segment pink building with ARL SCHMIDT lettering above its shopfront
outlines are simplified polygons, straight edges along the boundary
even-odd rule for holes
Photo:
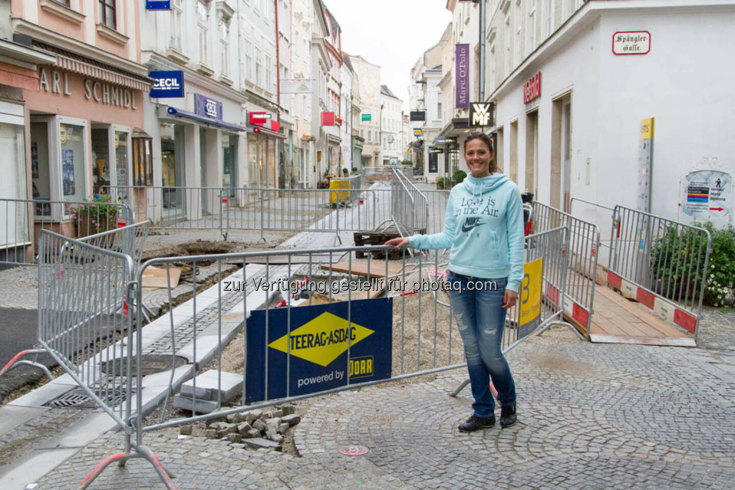
[[[16,40],[50,60],[36,63],[35,87],[26,84],[22,93],[29,198],[85,201],[106,193],[107,186],[135,184],[152,172],[134,161],[140,141],[132,139],[134,129],[143,128],[151,88],[148,69],[140,64],[140,5],[10,1]],[[43,209],[36,205],[33,212],[48,215]],[[54,223],[71,231],[65,206],[51,209]]]

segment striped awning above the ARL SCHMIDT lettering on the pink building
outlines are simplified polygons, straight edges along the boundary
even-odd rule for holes
[[[115,68],[112,65],[84,57],[81,54],[72,53],[56,46],[40,43],[39,41],[34,41],[33,45],[56,54],[56,65],[66,71],[90,76],[93,79],[121,85],[122,87],[128,87],[134,90],[143,90],[143,92],[151,91],[152,83],[148,77],[138,76],[135,73],[130,73],[120,68]]]

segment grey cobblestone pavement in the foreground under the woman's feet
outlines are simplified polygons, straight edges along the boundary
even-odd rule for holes
[[[732,327],[731,327],[732,328]],[[717,353],[595,345],[553,328],[509,354],[519,422],[459,433],[462,370],[313,400],[294,439],[300,458],[240,444],[148,434],[180,489],[735,489],[735,376]],[[340,455],[345,444],[365,456]],[[71,489],[120,433],[40,480]],[[110,466],[92,489],[161,489],[151,466]]]

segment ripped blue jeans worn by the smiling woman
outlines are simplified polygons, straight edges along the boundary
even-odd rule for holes
[[[495,400],[490,392],[490,378],[498,390],[501,406],[515,403],[513,375],[501,352],[506,317],[503,296],[508,278],[467,278],[449,271],[447,279],[454,286],[450,298],[459,334],[465,344],[467,371],[470,372],[470,386],[475,398],[472,408],[477,417],[494,417]],[[496,287],[492,287],[493,283]],[[456,286],[460,287],[459,290]]]

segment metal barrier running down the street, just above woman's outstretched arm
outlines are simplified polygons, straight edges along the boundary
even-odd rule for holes
[[[426,233],[429,201],[403,173],[393,170],[390,183],[390,217],[403,237]]]

